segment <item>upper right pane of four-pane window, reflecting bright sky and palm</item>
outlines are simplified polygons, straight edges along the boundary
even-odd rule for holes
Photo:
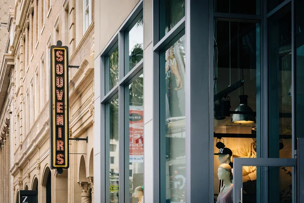
[[[135,21],[135,25],[130,31],[125,32],[126,63],[125,74],[143,58],[143,17],[140,14]]]

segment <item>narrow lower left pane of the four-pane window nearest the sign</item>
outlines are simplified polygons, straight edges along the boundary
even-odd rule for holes
[[[110,203],[119,202],[119,137],[118,137],[118,97],[109,104],[109,138],[111,150],[109,160]],[[116,147],[113,147],[116,146]]]

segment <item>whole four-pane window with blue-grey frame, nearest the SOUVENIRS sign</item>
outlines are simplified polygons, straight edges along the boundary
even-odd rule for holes
[[[132,203],[143,201],[142,3],[129,19],[119,29],[121,35],[115,36],[101,54],[104,63],[101,104],[105,109],[104,119],[108,121],[104,127],[105,192],[106,202],[111,203],[126,198]],[[124,48],[118,46],[119,42]],[[129,190],[120,191],[122,187]],[[124,196],[120,196],[122,193]]]

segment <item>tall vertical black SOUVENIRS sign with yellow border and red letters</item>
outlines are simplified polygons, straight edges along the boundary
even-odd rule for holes
[[[50,49],[51,168],[68,168],[68,47],[57,41]]]

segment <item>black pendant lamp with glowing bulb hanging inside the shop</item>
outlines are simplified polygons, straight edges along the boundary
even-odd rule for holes
[[[250,124],[255,123],[255,116],[252,109],[247,105],[248,95],[240,95],[240,105],[235,110],[238,113],[232,115],[232,123],[236,124]],[[243,113],[242,113],[243,112]]]

